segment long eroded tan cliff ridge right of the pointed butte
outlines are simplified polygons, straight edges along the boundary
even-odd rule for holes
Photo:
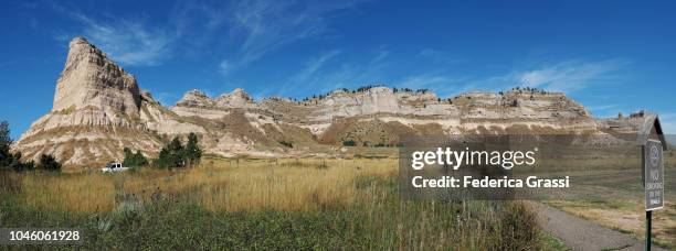
[[[584,107],[560,92],[515,89],[441,99],[431,91],[371,87],[358,91],[340,89],[304,101],[284,98],[218,101],[223,97],[249,95],[236,89],[210,98],[199,90],[191,90],[171,110],[183,118],[194,118],[210,124],[203,127],[207,138],[226,135],[228,141],[207,146],[230,154],[237,152],[233,149],[243,150],[242,145],[249,145],[250,151],[267,145],[264,151],[273,153],[278,150],[316,150],[315,144],[338,146],[347,141],[358,145],[395,145],[405,134],[598,132],[596,121]],[[244,118],[241,118],[242,114]],[[234,128],[251,130],[233,132],[233,128],[223,127],[225,120],[239,121],[232,126]],[[295,129],[294,137],[284,142],[295,142],[297,148],[282,148],[275,142],[281,140],[268,137],[292,134],[289,128]],[[258,135],[265,138],[258,139]],[[233,142],[233,145],[228,142]]]

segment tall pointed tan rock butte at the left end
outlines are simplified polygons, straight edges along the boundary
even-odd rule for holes
[[[123,148],[152,153],[161,142],[147,129],[144,107],[156,111],[159,103],[141,92],[131,74],[84,37],[75,37],[52,110],[33,122],[12,150],[32,160],[53,154],[71,168],[120,160]]]

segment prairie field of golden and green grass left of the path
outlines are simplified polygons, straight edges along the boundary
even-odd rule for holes
[[[207,156],[186,170],[2,173],[0,225],[80,228],[85,250],[564,249],[527,204],[400,200],[397,172],[389,157]]]

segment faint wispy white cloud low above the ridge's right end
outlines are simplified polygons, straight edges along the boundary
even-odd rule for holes
[[[629,62],[623,59],[569,61],[517,73],[514,76],[525,86],[570,92],[590,85],[617,80],[620,70],[627,64]]]

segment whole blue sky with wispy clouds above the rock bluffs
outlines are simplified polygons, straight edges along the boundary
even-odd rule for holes
[[[187,90],[303,98],[367,84],[442,97],[532,86],[594,116],[647,108],[676,133],[673,1],[4,1],[0,119],[52,107],[84,35],[163,105]]]

